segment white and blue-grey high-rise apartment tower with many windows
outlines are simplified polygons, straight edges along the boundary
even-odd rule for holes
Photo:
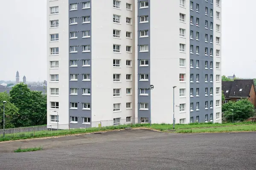
[[[172,123],[173,86],[176,123],[221,122],[220,0],[48,0],[47,18],[47,124]]]

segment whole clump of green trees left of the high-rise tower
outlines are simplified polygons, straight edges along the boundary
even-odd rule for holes
[[[6,129],[47,124],[47,95],[20,83],[12,87],[10,94],[0,92],[0,129],[3,128],[3,101],[6,101]]]

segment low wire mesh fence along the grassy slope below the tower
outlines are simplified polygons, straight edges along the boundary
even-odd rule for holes
[[[19,127],[12,129],[0,130],[0,141],[4,138],[31,138],[47,137],[54,135],[68,135],[75,133],[91,133],[105,130],[115,130],[120,128],[132,127],[134,124],[140,124],[141,118],[115,118],[109,121],[95,121],[85,123],[69,123],[69,124],[50,124],[47,126]]]

